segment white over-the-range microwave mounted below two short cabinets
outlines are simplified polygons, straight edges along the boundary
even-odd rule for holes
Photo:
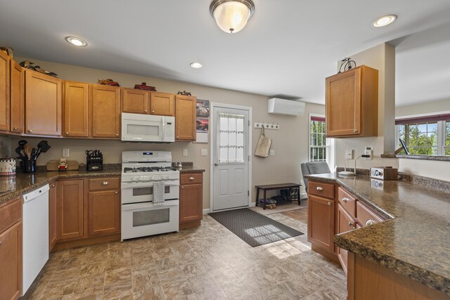
[[[122,112],[122,141],[174,142],[175,117]]]

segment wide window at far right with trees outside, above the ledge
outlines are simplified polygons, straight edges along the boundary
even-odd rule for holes
[[[450,114],[401,118],[395,124],[397,141],[405,142],[410,155],[450,155]]]

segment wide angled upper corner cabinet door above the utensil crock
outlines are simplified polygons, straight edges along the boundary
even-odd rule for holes
[[[25,133],[61,135],[63,81],[25,70]]]

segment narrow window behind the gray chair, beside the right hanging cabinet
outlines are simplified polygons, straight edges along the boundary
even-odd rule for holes
[[[309,162],[326,162],[327,139],[325,117],[309,117]]]

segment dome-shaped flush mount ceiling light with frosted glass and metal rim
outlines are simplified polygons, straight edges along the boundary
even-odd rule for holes
[[[252,0],[214,0],[210,5],[210,13],[217,26],[228,33],[243,30],[254,12]]]

